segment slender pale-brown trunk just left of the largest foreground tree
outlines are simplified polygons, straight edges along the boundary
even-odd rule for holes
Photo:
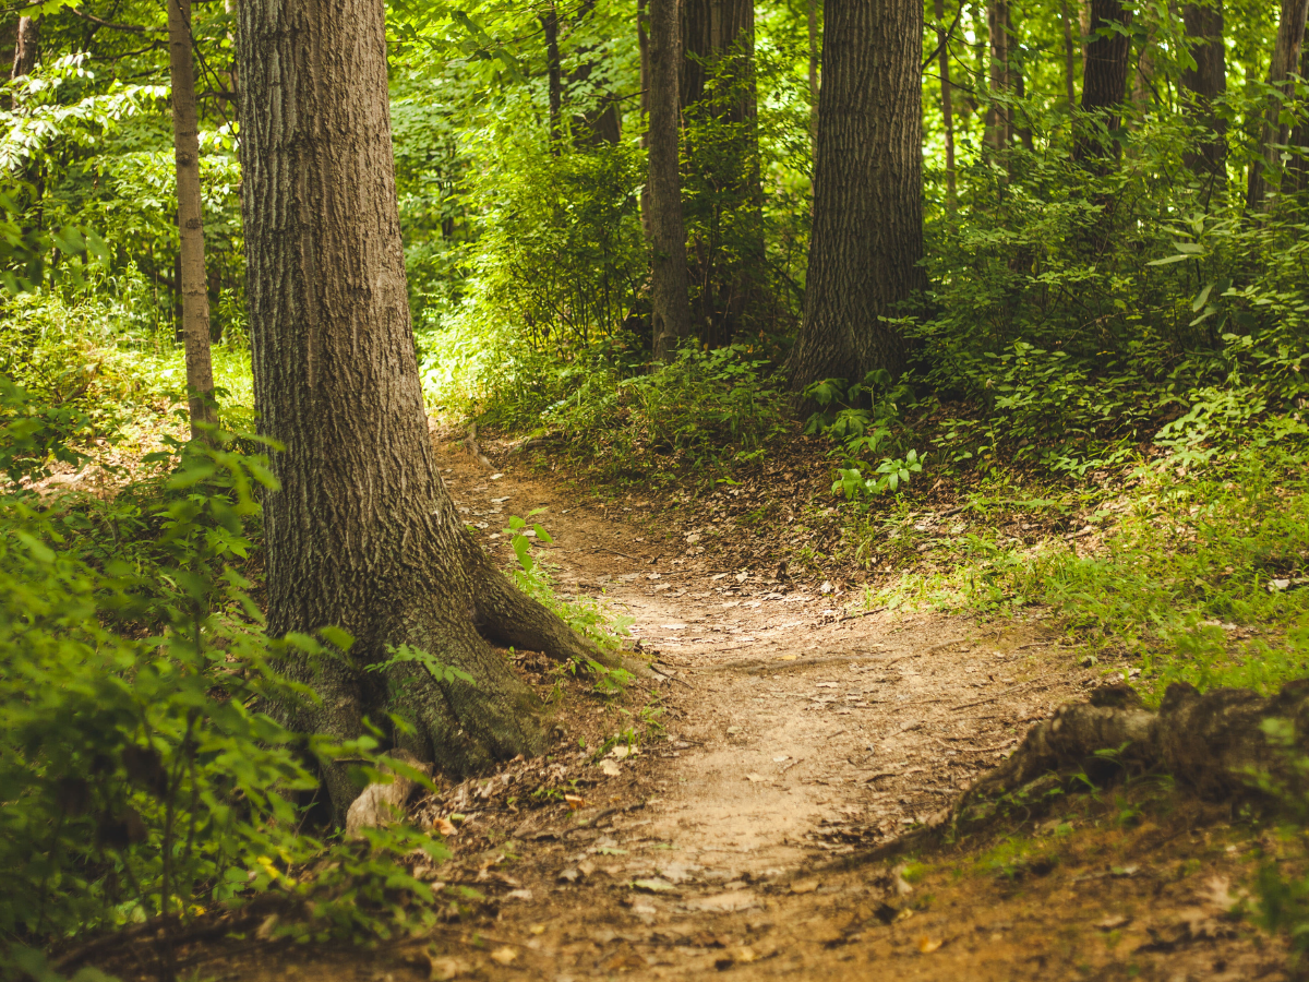
[[[209,361],[209,295],[204,275],[204,215],[200,202],[200,135],[191,60],[191,0],[168,0],[169,76],[173,82],[173,145],[177,157],[178,285],[182,342],[191,406],[191,439],[217,422]]]

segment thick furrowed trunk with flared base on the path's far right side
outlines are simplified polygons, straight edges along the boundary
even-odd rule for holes
[[[791,384],[905,367],[881,318],[923,285],[923,5],[830,0],[805,314]]]

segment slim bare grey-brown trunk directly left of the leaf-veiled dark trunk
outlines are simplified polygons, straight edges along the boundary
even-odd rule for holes
[[[649,230],[654,357],[672,360],[691,335],[686,228],[682,224],[678,81],[682,46],[677,0],[649,0]]]

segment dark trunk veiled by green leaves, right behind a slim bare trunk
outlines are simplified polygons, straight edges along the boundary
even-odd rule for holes
[[[683,0],[682,119],[695,187],[691,325],[720,347],[746,329],[763,267],[763,191],[755,130],[754,0]],[[719,126],[706,145],[696,122]],[[686,187],[683,187],[683,191]]]

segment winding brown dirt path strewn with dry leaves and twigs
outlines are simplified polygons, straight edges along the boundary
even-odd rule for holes
[[[658,501],[592,499],[521,460],[493,474],[458,443],[439,461],[504,560],[508,516],[546,509],[558,593],[631,617],[657,681],[602,697],[520,655],[556,744],[416,804],[457,829],[453,859],[419,871],[454,897],[442,926],[365,953],[229,952],[199,977],[1293,977],[1228,913],[1275,837],[1165,783],[888,850],[1101,682],[1039,611],[860,615],[831,584],[689,549]]]

